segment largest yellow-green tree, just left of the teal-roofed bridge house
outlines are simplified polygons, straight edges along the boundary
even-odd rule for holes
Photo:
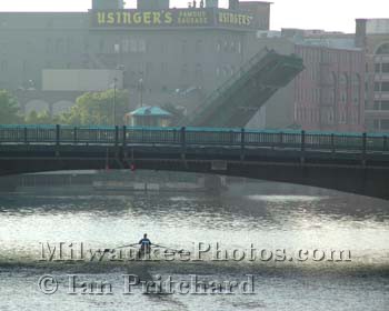
[[[108,90],[84,93],[76,100],[76,104],[69,112],[59,116],[59,122],[63,124],[112,126],[113,110],[116,110],[116,123],[122,124],[124,113],[128,112],[127,91]]]

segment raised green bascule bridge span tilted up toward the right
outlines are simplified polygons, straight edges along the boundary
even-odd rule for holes
[[[263,49],[205,99],[180,126],[242,128],[303,70],[302,59]]]

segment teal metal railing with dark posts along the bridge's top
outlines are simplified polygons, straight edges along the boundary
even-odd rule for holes
[[[306,132],[215,128],[0,126],[0,143],[184,144],[301,150],[389,151],[388,133]]]

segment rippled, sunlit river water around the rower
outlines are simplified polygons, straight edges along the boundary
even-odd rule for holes
[[[221,194],[3,194],[0,310],[389,310],[388,202],[336,192],[251,188]],[[288,257],[217,261],[209,252],[197,261],[69,260],[70,243],[112,249],[139,241],[144,232],[153,243],[173,249],[194,250],[199,242],[215,249],[219,242],[230,254],[252,244],[266,254],[285,250]],[[48,245],[60,242],[68,257],[49,261]],[[296,260],[299,250],[307,260]],[[313,250],[325,259],[313,260]],[[331,261],[331,250],[350,257]],[[144,289],[134,285],[128,294],[128,274],[187,284],[196,275],[203,282],[247,282],[247,287],[230,294],[223,290],[143,294]],[[43,275],[53,279],[39,283]],[[73,291],[71,280],[78,284]],[[82,294],[81,281],[110,284],[112,294]],[[54,293],[42,292],[53,288]]]

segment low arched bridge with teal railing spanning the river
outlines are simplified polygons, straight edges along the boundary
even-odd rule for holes
[[[0,126],[0,175],[106,168],[247,177],[389,199],[386,134]]]

